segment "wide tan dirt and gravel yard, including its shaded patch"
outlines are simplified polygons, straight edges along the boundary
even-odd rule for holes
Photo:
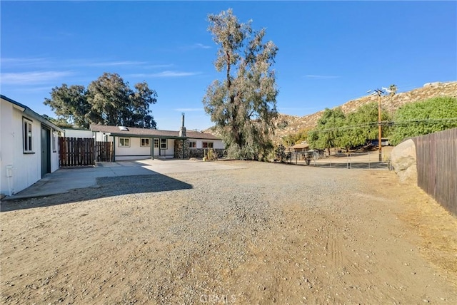
[[[457,218],[418,187],[241,163],[2,202],[1,303],[457,304]]]

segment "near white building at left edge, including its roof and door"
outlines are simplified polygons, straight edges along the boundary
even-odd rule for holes
[[[59,169],[64,130],[16,100],[0,99],[0,193],[11,196]]]

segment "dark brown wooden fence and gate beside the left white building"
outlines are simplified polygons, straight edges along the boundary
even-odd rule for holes
[[[111,142],[95,142],[93,138],[59,138],[60,166],[87,166],[111,160]]]

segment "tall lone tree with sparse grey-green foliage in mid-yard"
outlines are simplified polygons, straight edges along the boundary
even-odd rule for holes
[[[204,96],[204,108],[221,132],[231,157],[262,159],[272,148],[269,135],[277,116],[275,73],[278,48],[263,43],[265,29],[253,31],[231,9],[209,15],[209,31],[219,45],[214,66],[224,73]]]

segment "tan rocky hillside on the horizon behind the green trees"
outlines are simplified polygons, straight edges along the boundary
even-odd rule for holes
[[[406,103],[414,103],[419,100],[435,98],[443,95],[457,97],[457,82],[426,83],[422,88],[398,93],[392,97],[388,95],[381,96],[381,104],[383,105],[383,109],[393,112]],[[367,95],[361,98],[356,98],[355,100],[349,100],[347,103],[341,105],[341,108],[344,113],[351,113],[361,105],[377,101],[378,95]],[[318,119],[321,118],[322,113],[323,110],[304,116],[279,114],[275,124],[280,126],[281,123],[286,123],[287,125],[285,128],[276,128],[276,135],[273,136],[273,142],[281,143],[281,138],[285,135],[293,135],[295,133],[299,133],[303,129],[315,127]],[[214,133],[215,135],[217,134],[214,128],[209,128],[204,131]]]

